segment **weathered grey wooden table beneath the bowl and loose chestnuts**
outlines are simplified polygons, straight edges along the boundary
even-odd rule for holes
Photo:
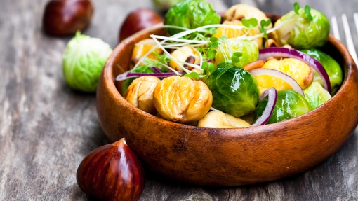
[[[75,92],[63,80],[62,53],[69,38],[42,31],[47,1],[0,2],[0,200],[92,200],[77,186],[77,167],[90,151],[109,143],[98,123],[95,94]],[[241,2],[284,14],[294,1]],[[358,10],[358,0],[298,2],[310,4],[328,18],[347,13],[350,25]],[[93,3],[95,15],[84,33],[103,39],[112,48],[126,14],[138,6],[152,7],[150,0]],[[211,3],[225,11],[238,1]],[[343,36],[341,32],[344,40]],[[353,37],[358,47],[356,32]],[[270,183],[203,187],[147,172],[140,200],[358,200],[357,132],[317,167]]]

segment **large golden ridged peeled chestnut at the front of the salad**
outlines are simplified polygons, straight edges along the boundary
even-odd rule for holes
[[[194,123],[208,113],[213,95],[202,81],[171,76],[158,83],[153,100],[158,113],[166,120]]]

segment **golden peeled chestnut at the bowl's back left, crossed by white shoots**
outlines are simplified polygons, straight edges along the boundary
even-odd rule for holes
[[[156,44],[153,39],[144,39],[142,41],[139,41],[139,43],[135,44],[131,57],[131,61],[133,62],[133,64],[137,64],[140,58],[147,54],[148,51],[152,49],[155,45]],[[157,51],[159,55],[163,53],[163,50],[161,50],[161,48],[156,48],[154,51]],[[157,57],[155,56],[154,51],[150,53],[147,57],[155,60]]]

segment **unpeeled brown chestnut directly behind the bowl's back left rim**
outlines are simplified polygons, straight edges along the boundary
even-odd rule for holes
[[[124,20],[119,30],[119,42],[126,39],[126,37],[139,32],[142,29],[152,27],[163,22],[161,15],[150,8],[138,8],[129,13],[126,20]]]

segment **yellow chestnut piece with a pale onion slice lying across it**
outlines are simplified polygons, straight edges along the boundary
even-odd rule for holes
[[[312,69],[297,59],[286,58],[283,60],[269,60],[265,63],[263,68],[275,69],[291,76],[297,81],[300,87],[304,90],[311,85],[313,81]],[[291,90],[291,86],[280,78],[272,76],[256,76],[260,92],[268,88],[276,88],[276,90]]]

